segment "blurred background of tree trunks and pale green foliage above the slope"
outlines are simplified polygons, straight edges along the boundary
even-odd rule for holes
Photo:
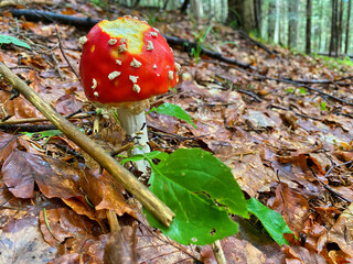
[[[103,0],[92,0],[104,4]],[[115,0],[127,7],[180,9],[195,22],[216,20],[266,42],[320,55],[352,54],[351,0]],[[353,54],[352,54],[353,55]]]

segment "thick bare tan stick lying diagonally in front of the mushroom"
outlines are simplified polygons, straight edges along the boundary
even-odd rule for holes
[[[39,111],[42,112],[58,130],[76,143],[82,150],[88,153],[109,174],[130,191],[161,223],[169,227],[174,213],[158,197],[156,197],[141,182],[131,175],[105,150],[93,140],[81,132],[74,124],[68,122],[60,113],[44,102],[24,80],[13,74],[3,63],[0,62],[0,75],[7,79],[14,89],[21,92]]]

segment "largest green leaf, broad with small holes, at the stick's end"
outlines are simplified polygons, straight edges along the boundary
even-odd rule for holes
[[[248,217],[231,168],[201,148],[178,150],[151,164],[151,191],[172,211],[170,228],[145,210],[149,223],[182,244],[208,244],[237,232],[228,213]],[[217,206],[218,205],[218,206]]]

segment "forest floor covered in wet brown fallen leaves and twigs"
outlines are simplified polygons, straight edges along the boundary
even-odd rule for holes
[[[132,14],[191,42],[211,24],[196,26],[180,13],[121,7],[108,12],[83,2],[26,8],[97,20]],[[89,134],[94,108],[74,74],[77,40],[89,29],[14,19],[9,7],[1,11],[2,34],[32,50],[2,44],[0,61],[61,114],[82,110],[73,122]],[[196,63],[196,55],[173,46],[181,80],[176,92],[152,106],[179,105],[197,129],[152,112],[147,117],[152,150],[212,152],[232,168],[246,197],[278,211],[298,238],[289,235],[289,245],[279,246],[254,219],[237,219],[240,231],[221,242],[228,263],[352,263],[352,67],[280,46],[264,50],[231,28],[212,24],[205,47],[250,67],[206,55]],[[115,179],[85,170],[93,164],[87,155],[65,135],[44,132],[55,129],[50,122],[31,123],[42,114],[22,96],[10,100],[4,80],[0,87],[1,118],[9,118],[0,123],[0,263],[103,263],[105,254],[116,252],[136,255],[138,263],[215,263],[210,245],[183,246],[151,229]],[[105,144],[119,148],[124,132],[114,133]],[[119,216],[119,238],[110,238],[106,209]]]

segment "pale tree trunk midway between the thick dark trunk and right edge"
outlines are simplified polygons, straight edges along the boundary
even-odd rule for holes
[[[299,1],[288,2],[288,46],[297,47],[299,29]]]

